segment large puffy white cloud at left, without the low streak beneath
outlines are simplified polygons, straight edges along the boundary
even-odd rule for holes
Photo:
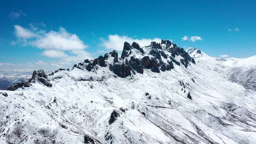
[[[60,27],[58,32],[50,31],[48,33],[38,30],[36,27],[32,27],[33,30],[36,30],[34,32],[18,25],[14,27],[16,36],[25,39],[22,41],[23,45],[55,50],[83,50],[87,47],[78,36],[68,33],[63,27]]]

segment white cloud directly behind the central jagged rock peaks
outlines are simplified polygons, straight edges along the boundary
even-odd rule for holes
[[[128,42],[132,44],[133,42],[137,42],[140,46],[150,45],[151,42],[160,43],[160,38],[142,38],[142,39],[134,39],[128,36],[119,36],[119,35],[109,35],[108,39],[101,38],[101,46],[104,46],[107,49],[115,49],[115,50],[123,50],[124,42]]]

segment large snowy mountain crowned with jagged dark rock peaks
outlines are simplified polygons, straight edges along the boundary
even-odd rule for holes
[[[0,144],[256,144],[256,91],[229,80],[238,62],[162,40],[35,71],[0,91]]]

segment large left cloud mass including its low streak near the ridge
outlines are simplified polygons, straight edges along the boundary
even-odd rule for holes
[[[45,27],[44,24],[40,25]],[[46,32],[36,26],[37,25],[30,24],[29,28],[25,28],[15,25],[15,35],[18,39],[12,43],[15,45],[30,45],[39,49],[45,49],[42,55],[50,58],[59,58],[59,60],[51,63],[43,61],[27,63],[29,66],[34,66],[34,64],[63,66],[82,62],[86,58],[91,59],[91,54],[84,50],[87,45],[85,45],[76,34],[67,32],[63,27],[60,27],[59,31],[51,30]]]

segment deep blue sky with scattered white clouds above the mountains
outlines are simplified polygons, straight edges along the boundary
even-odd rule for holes
[[[125,40],[256,54],[255,0],[1,0],[0,19],[0,69],[71,67]]]

